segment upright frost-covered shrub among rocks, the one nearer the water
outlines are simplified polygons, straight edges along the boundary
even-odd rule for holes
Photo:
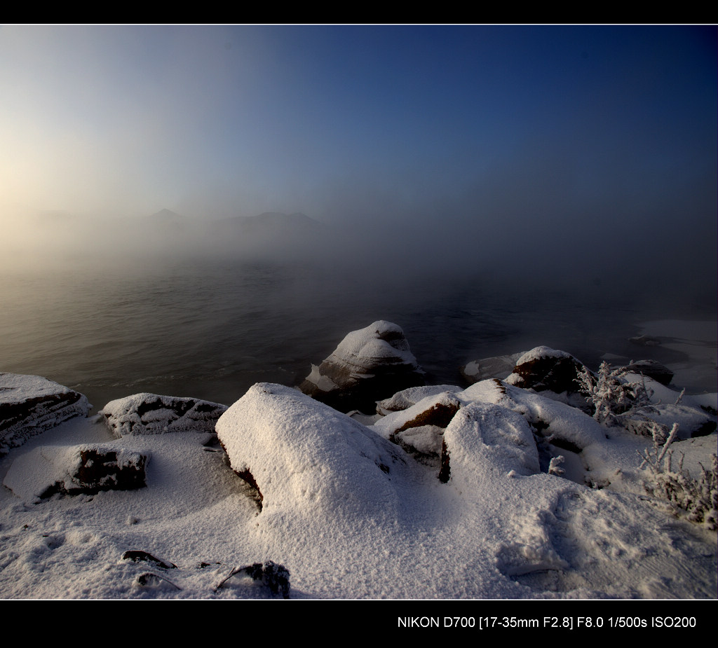
[[[586,367],[577,374],[579,391],[594,409],[593,418],[607,427],[615,425],[617,415],[647,405],[653,393],[643,380],[627,380],[625,369],[612,369],[608,362],[601,363],[595,377]]]

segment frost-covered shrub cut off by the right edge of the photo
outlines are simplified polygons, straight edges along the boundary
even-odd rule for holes
[[[648,471],[650,478],[643,484],[645,492],[658,499],[666,499],[676,510],[685,511],[691,522],[699,522],[711,530],[718,530],[718,455],[712,455],[712,466],[707,470],[703,464],[698,479],[683,467],[683,456],[673,466],[673,451],[669,446],[678,432],[674,423],[671,433],[660,444],[658,427],[653,434],[653,451],[645,451],[640,465]]]

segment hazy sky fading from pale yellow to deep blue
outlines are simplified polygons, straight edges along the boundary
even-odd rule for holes
[[[303,212],[714,276],[717,77],[714,26],[4,25],[0,211]]]

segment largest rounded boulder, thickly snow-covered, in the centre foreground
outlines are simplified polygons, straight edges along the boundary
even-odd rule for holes
[[[355,517],[396,510],[401,450],[298,390],[253,385],[217,422],[232,469],[255,487],[261,515]]]

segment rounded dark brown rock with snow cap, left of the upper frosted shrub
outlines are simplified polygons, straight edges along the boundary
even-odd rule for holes
[[[513,373],[506,378],[506,382],[537,392],[573,393],[579,390],[576,379],[584,369],[581,362],[565,351],[536,347],[516,361],[516,367],[513,367]]]

